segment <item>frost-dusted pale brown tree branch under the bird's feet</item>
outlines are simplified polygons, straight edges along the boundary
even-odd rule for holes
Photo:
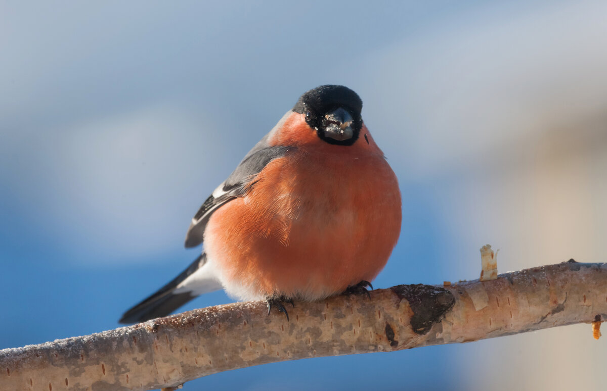
[[[0,350],[3,390],[150,390],[319,356],[463,343],[607,316],[607,264],[574,261],[450,286],[399,285],[296,302],[241,302]],[[591,335],[589,328],[589,337]]]

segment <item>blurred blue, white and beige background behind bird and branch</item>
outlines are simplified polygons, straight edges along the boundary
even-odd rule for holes
[[[375,287],[607,261],[607,2],[0,2],[0,349],[114,329],[181,272],[189,219],[320,84],[398,175]],[[230,302],[222,292],[185,309]],[[570,390],[589,325],[307,359],[186,390]]]

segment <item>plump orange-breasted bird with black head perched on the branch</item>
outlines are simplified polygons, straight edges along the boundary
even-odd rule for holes
[[[127,310],[131,324],[203,293],[285,304],[367,292],[401,230],[395,173],[342,85],[305,92],[203,202],[185,247],[200,256]]]

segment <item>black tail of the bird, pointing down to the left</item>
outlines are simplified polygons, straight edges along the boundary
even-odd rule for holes
[[[161,287],[158,292],[141,301],[137,306],[132,307],[122,315],[118,322],[122,324],[131,324],[148,321],[149,319],[160,318],[169,315],[174,310],[186,304],[186,302],[197,297],[192,292],[173,293],[181,281],[188,278],[189,275],[198,270],[206,262],[206,254],[202,253],[194,262],[183,270],[171,282]]]

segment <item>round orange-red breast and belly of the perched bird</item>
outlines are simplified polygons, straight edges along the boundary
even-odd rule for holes
[[[270,162],[245,197],[217,210],[205,251],[232,296],[311,300],[375,278],[400,227],[381,151],[316,145]]]

